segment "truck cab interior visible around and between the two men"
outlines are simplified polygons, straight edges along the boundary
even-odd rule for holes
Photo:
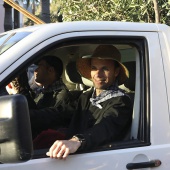
[[[92,88],[93,83],[82,77],[76,68],[76,60],[79,57],[83,56],[90,56],[92,55],[94,49],[99,44],[80,44],[80,45],[71,45],[71,46],[64,46],[61,48],[56,48],[47,52],[45,55],[56,55],[60,57],[64,63],[64,73],[62,75],[62,79],[64,83],[69,88],[70,92],[73,94],[74,98],[77,99],[81,93],[84,93]],[[140,118],[140,62],[139,62],[139,51],[137,47],[132,44],[122,44],[117,43],[113,44],[116,46],[122,57],[122,63],[127,67],[129,70],[129,78],[127,81],[120,86],[121,89],[124,89],[126,93],[130,96],[133,102],[133,121],[132,126],[128,131],[128,134],[125,136],[123,141],[120,142],[112,142],[108,145],[101,146],[97,150],[93,151],[102,151],[102,150],[109,150],[109,149],[118,149],[124,148],[125,146],[129,147],[129,145],[133,145],[138,140],[138,127],[139,127],[139,118]],[[138,66],[136,68],[136,65]],[[138,77],[138,78],[136,78]],[[136,93],[138,91],[138,93]],[[126,145],[125,145],[126,144]],[[36,151],[37,156],[43,152]],[[39,154],[38,154],[39,153]]]

